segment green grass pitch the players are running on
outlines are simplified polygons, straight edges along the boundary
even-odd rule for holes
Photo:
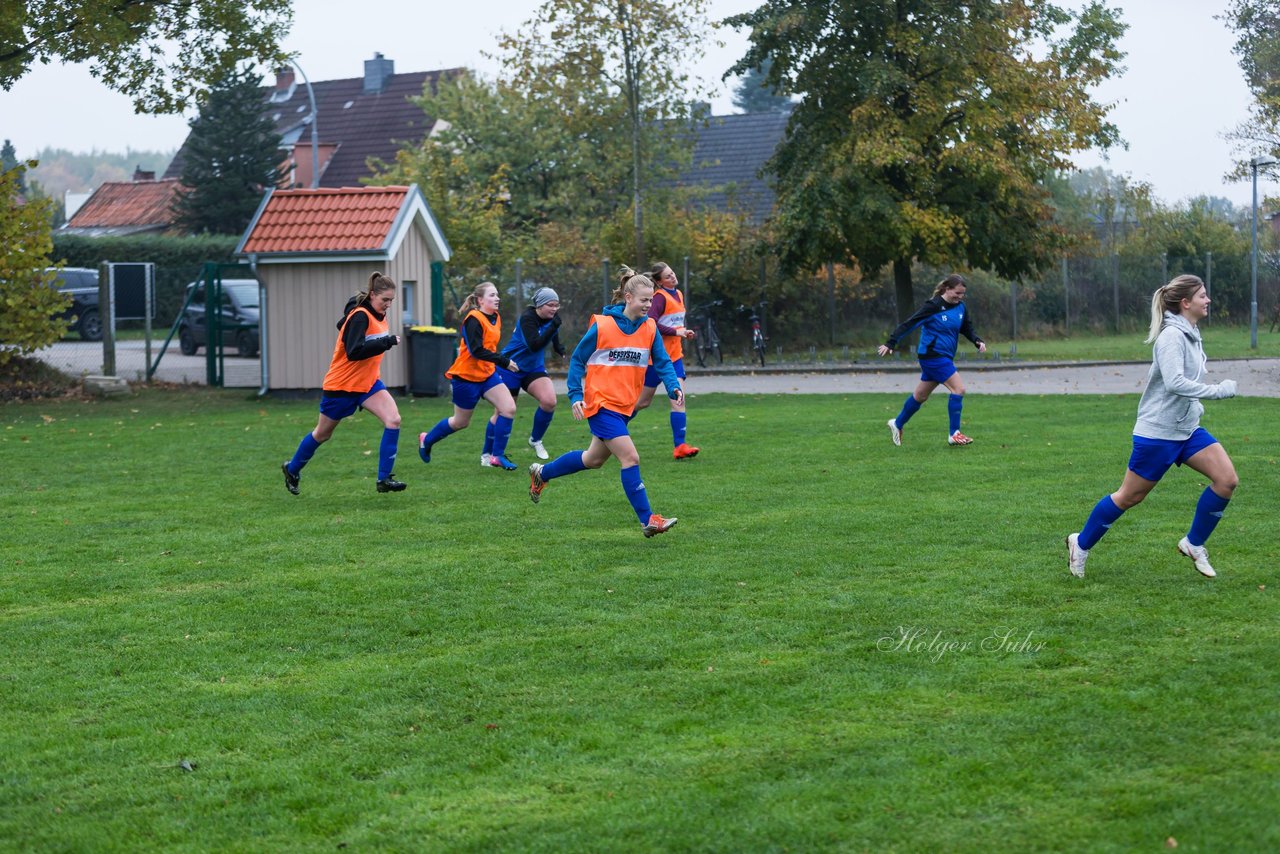
[[[650,410],[653,540],[614,462],[424,466],[440,401],[389,495],[367,415],[285,493],[315,401],[0,407],[0,848],[1280,849],[1275,402],[1208,405],[1216,580],[1176,470],[1082,581],[1137,398],[972,397],[963,449],[900,399],[699,396],[687,463]]]

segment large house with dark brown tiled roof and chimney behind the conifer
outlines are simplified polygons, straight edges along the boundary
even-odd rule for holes
[[[396,159],[402,142],[417,143],[431,132],[428,118],[411,97],[425,86],[461,69],[397,74],[396,63],[375,54],[365,60],[364,77],[312,81],[316,101],[320,187],[357,187],[372,173],[369,159]],[[275,86],[264,90],[262,111],[275,122],[283,146],[296,172],[287,186],[311,186],[311,100],[306,83],[292,69],[276,73]],[[165,178],[182,175],[186,143],[165,170]]]

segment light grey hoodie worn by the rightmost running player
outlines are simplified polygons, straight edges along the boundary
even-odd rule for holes
[[[1181,442],[1199,426],[1199,416],[1204,414],[1201,398],[1235,397],[1234,379],[1217,384],[1201,382],[1206,362],[1199,329],[1181,315],[1166,311],[1152,348],[1147,389],[1138,401],[1134,435]]]

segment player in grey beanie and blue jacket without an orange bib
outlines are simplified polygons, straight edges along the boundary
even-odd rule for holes
[[[554,347],[561,356],[564,355],[564,344],[559,341],[559,294],[550,288],[538,288],[534,293],[534,305],[525,309],[516,324],[516,332],[511,334],[511,341],[502,348],[502,355],[515,359],[524,366],[524,370],[515,374],[506,367],[498,367],[494,374],[502,384],[511,392],[511,399],[520,397],[520,389],[525,389],[538,401],[538,410],[534,412],[534,428],[529,434],[529,447],[534,449],[539,460],[549,458],[547,448],[543,447],[543,437],[556,415],[556,385],[547,375],[547,346]],[[480,455],[481,466],[506,467],[511,460],[494,457],[493,442],[498,426],[498,414],[489,419],[489,425],[484,431],[484,452]],[[515,463],[511,463],[515,465]]]

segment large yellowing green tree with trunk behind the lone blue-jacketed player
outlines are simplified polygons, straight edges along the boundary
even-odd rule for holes
[[[1042,179],[1066,155],[1119,141],[1091,90],[1116,69],[1116,12],[1047,0],[767,0],[727,24],[797,95],[771,170],[776,251],[788,270],[892,264],[899,312],[911,264],[1015,278],[1057,257]]]

